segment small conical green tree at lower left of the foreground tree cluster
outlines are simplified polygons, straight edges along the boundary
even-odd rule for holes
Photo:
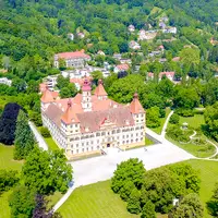
[[[140,197],[141,192],[136,187],[134,187],[130,194],[130,198],[128,199],[128,211],[136,215],[141,213]]]

